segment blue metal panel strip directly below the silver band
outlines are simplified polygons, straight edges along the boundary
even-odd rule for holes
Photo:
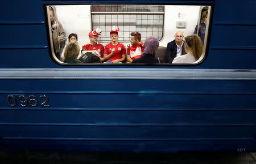
[[[256,93],[254,84],[254,80],[1,80],[0,93],[246,95]]]

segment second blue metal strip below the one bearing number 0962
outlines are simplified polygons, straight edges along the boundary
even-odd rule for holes
[[[8,130],[7,130],[8,129]],[[0,126],[2,139],[92,141],[254,140],[256,126]],[[217,132],[217,133],[216,133]]]

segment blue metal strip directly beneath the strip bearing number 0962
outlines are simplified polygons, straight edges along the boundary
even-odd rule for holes
[[[0,126],[256,126],[255,110],[2,109]],[[246,118],[246,119],[244,119]]]

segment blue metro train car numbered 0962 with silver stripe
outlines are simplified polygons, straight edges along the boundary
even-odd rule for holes
[[[0,150],[256,150],[255,1],[10,0],[2,6]],[[97,26],[108,32],[107,15],[129,27],[122,36],[128,44],[134,19],[142,41],[158,35],[162,57],[175,31],[193,33],[206,6],[203,55],[192,64],[67,64],[54,52],[49,6],[65,37],[77,32],[82,45]],[[107,10],[112,6],[117,11]],[[152,24],[146,31],[138,25],[143,15]],[[109,42],[104,31],[99,42]]]

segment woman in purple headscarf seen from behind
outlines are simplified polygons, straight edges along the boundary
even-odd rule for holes
[[[155,53],[158,50],[158,46],[159,46],[158,38],[154,36],[148,37],[143,45],[144,52],[141,58],[134,59],[133,63],[146,63],[146,64],[164,63],[162,58],[155,57]]]

